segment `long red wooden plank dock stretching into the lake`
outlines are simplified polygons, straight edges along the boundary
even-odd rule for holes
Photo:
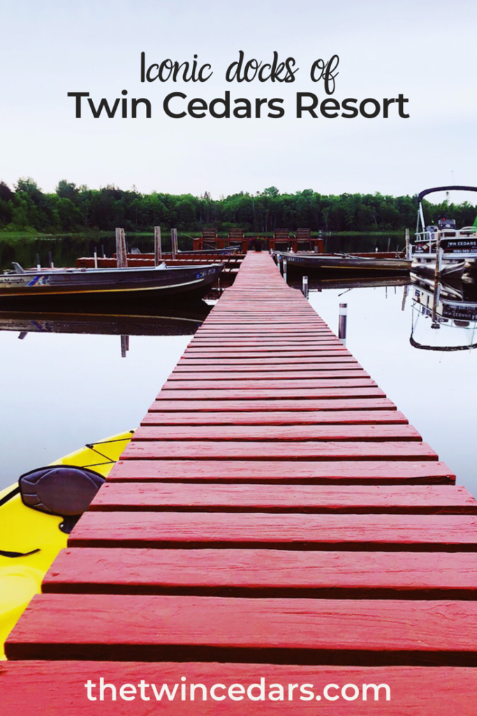
[[[476,716],[476,596],[476,500],[248,253],[11,633],[2,713]],[[100,676],[392,697],[92,704]]]

